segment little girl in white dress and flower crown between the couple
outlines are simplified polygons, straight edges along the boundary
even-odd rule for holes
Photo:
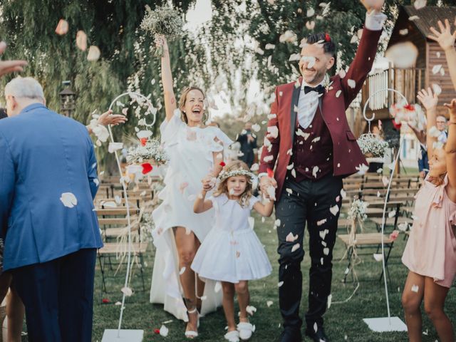
[[[215,209],[215,223],[199,247],[192,269],[204,279],[221,281],[223,309],[228,332],[224,338],[237,342],[252,336],[254,326],[249,323],[248,281],[271,274],[271,264],[254,230],[249,225],[250,211],[255,209],[263,216],[271,216],[274,202],[262,204],[252,196],[252,172],[244,162],[230,162],[219,175],[214,195],[205,198],[211,188],[203,180],[201,195],[193,207],[196,213]],[[239,324],[234,323],[234,292],[239,301]]]

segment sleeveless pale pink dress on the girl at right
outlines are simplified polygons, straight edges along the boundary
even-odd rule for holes
[[[413,227],[402,262],[410,271],[429,276],[440,286],[450,287],[456,275],[456,203],[445,187],[425,180],[415,196]]]

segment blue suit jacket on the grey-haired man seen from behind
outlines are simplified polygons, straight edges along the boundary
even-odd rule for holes
[[[93,198],[93,142],[84,125],[34,103],[0,120],[0,228],[4,270],[103,246]],[[69,208],[61,195],[78,203]]]

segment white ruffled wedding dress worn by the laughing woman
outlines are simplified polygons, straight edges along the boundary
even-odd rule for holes
[[[188,127],[177,113],[160,126],[162,143],[170,157],[165,187],[160,192],[161,204],[152,212],[152,231],[156,247],[150,289],[150,302],[164,304],[165,311],[188,321],[182,299],[177,248],[172,227],[185,227],[204,241],[214,222],[213,209],[202,214],[193,212],[193,202],[202,189],[201,180],[214,167],[213,152],[223,151],[230,140],[219,128]],[[217,142],[218,140],[218,142]],[[215,293],[215,282],[206,281],[201,314],[215,311],[222,303],[222,293]]]

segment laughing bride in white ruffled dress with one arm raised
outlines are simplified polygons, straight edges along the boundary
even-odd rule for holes
[[[165,37],[160,37],[157,44],[163,48],[161,63],[166,112],[160,133],[170,161],[165,188],[159,194],[162,202],[152,213],[156,252],[150,302],[164,304],[165,311],[186,321],[185,337],[195,338],[199,313],[214,311],[220,304],[221,294],[215,293],[214,282],[204,283],[190,268],[213,221],[212,209],[195,214],[193,202],[202,179],[209,173],[217,177],[222,170],[224,145],[230,145],[232,140],[219,128],[204,126],[204,92],[201,89],[185,88],[176,102]]]

